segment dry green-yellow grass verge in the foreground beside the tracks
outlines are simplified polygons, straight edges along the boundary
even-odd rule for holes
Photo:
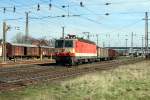
[[[3,92],[0,100],[150,100],[150,62]]]

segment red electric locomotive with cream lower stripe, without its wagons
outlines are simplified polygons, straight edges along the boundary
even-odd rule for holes
[[[55,42],[56,63],[74,65],[83,62],[95,61],[97,58],[97,46],[89,40],[68,36]]]

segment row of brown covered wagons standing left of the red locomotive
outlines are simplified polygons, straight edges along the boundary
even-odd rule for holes
[[[55,52],[55,48],[52,47],[30,44],[7,43],[6,48],[7,57],[10,60],[15,58],[52,58]]]

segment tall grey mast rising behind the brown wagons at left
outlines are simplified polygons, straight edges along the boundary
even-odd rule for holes
[[[26,14],[25,43],[27,43],[29,37],[29,12],[25,12],[25,14]]]

